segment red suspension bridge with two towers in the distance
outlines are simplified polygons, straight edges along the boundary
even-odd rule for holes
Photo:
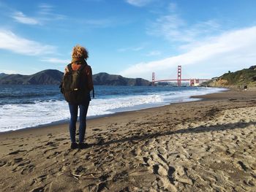
[[[154,72],[152,72],[152,85],[155,85],[155,82],[170,82],[170,81],[177,82],[177,86],[181,86],[181,81],[188,81],[190,86],[197,86],[197,85],[200,85],[200,83],[202,82],[208,81],[208,79],[197,79],[197,78],[182,79],[181,66],[178,66],[178,77],[176,80],[155,80]]]

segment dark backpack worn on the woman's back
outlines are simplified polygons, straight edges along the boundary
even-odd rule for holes
[[[72,70],[72,64],[67,66],[67,72],[61,82],[60,88],[64,98],[70,104],[83,104],[88,101],[89,90],[86,87],[87,78],[83,69],[86,64],[81,64],[80,68]]]

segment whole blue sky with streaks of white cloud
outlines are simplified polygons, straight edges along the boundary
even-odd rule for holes
[[[0,73],[34,74],[89,50],[93,74],[212,78],[256,65],[255,0],[0,0]]]

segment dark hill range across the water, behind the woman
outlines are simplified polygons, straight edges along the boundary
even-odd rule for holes
[[[0,74],[0,84],[4,85],[59,85],[63,72],[48,69],[31,75]],[[151,85],[148,80],[141,78],[126,78],[121,75],[99,73],[93,75],[94,85]]]

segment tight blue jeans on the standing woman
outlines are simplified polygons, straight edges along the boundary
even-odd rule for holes
[[[76,122],[78,120],[78,107],[79,107],[79,142],[83,143],[86,134],[86,115],[90,101],[86,104],[69,104],[70,122],[69,134],[71,142],[75,142]]]

